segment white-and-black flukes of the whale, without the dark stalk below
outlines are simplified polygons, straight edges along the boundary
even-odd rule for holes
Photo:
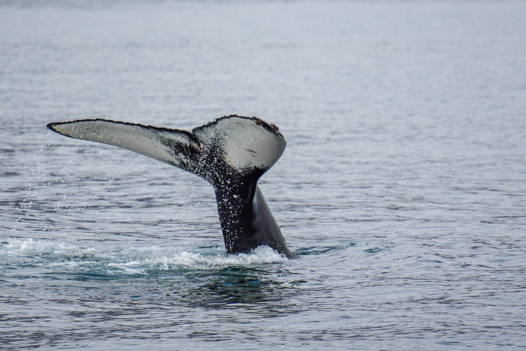
[[[191,132],[107,119],[53,122],[66,137],[128,149],[195,173],[214,187],[226,178],[256,178],[287,144],[278,128],[257,117],[224,116]]]

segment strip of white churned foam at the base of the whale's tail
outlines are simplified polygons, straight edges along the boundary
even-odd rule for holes
[[[31,257],[36,262],[67,263],[66,269],[79,269],[97,265],[113,272],[141,274],[170,270],[221,270],[229,266],[253,266],[282,263],[288,259],[267,246],[257,247],[250,253],[229,255],[222,248],[198,252],[188,249],[148,246],[129,247],[112,251],[98,250],[51,240],[12,239],[0,246],[7,256]],[[49,262],[51,261],[51,262]]]

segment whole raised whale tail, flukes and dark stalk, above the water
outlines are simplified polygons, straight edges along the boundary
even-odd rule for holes
[[[257,117],[231,115],[191,132],[98,118],[54,122],[47,127],[70,138],[118,146],[196,174],[214,187],[227,252],[268,245],[293,256],[257,186],[287,144],[275,125]]]

